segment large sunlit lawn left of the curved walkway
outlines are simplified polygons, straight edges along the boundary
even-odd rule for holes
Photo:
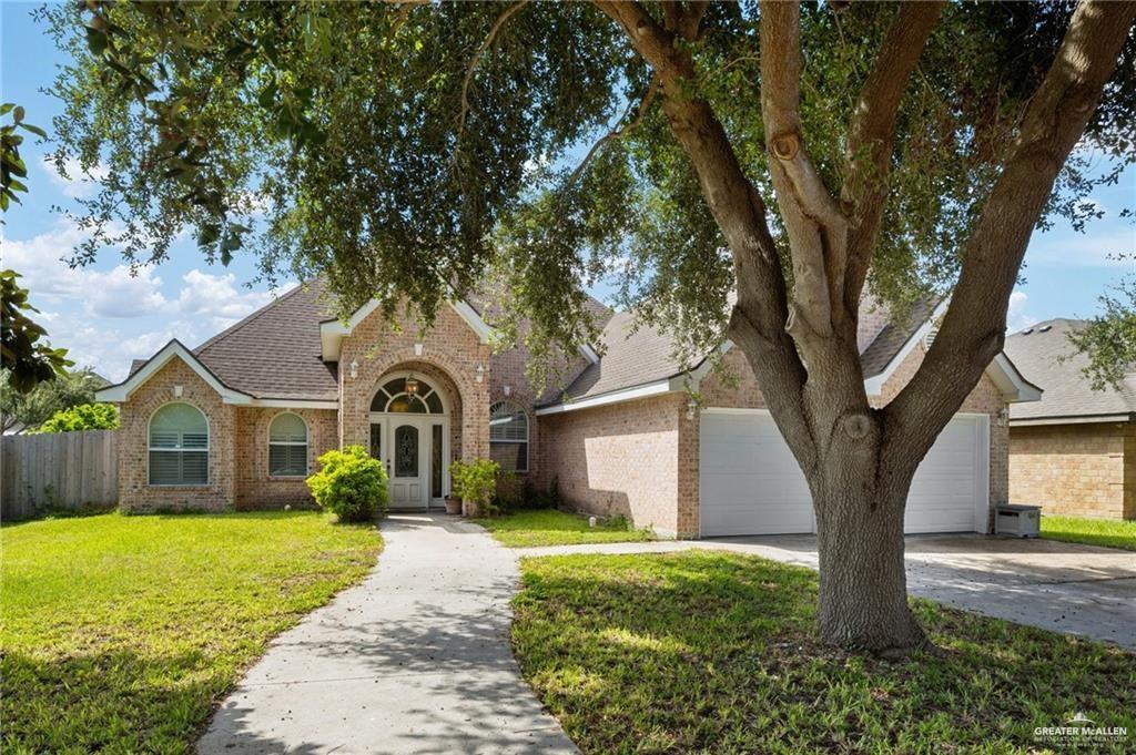
[[[382,547],[310,512],[103,514],[0,542],[6,755],[189,752],[268,639]]]

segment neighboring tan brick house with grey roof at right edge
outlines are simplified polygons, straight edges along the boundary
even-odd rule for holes
[[[1083,320],[1039,322],[1005,352],[1045,389],[1010,410],[1010,500],[1044,513],[1136,519],[1136,378],[1093,391],[1069,342]]]

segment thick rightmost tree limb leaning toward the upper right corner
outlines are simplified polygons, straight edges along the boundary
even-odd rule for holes
[[[1001,351],[1029,236],[1116,69],[1134,19],[1131,0],[1085,0],[1074,11],[966,245],[943,326],[914,377],[884,410],[884,454],[889,447],[926,453]]]

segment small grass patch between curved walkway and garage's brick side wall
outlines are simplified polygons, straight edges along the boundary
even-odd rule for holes
[[[650,530],[634,529],[625,519],[600,521],[595,527],[588,527],[587,517],[568,514],[554,509],[518,511],[474,521],[490,530],[499,543],[510,548],[654,539]]]

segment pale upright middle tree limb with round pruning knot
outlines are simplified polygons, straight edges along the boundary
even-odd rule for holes
[[[843,307],[840,311],[834,308],[834,294],[843,287],[847,220],[804,149],[800,87],[800,6],[765,2],[761,118],[772,158],[769,173],[777,192],[777,207],[793,250],[794,311],[786,327],[808,350],[817,336],[827,338],[832,334],[834,321],[854,321],[854,314],[849,316]]]

